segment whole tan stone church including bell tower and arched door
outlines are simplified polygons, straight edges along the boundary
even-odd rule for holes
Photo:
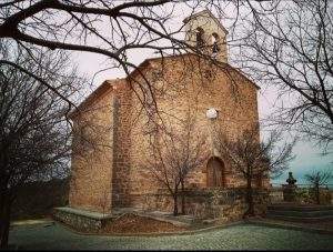
[[[105,80],[71,113],[75,133],[70,208],[108,213],[119,208],[172,211],[168,191],[142,164],[155,102],[171,124],[190,110],[198,133],[208,138],[210,158],[185,183],[186,212],[238,219],[245,210],[240,192],[245,181],[220,157],[211,134],[219,128],[235,138],[256,123],[259,87],[228,63],[228,31],[211,12],[204,10],[183,22],[185,41],[211,59],[194,52],[147,59],[127,78]],[[256,183],[268,184],[268,180]]]

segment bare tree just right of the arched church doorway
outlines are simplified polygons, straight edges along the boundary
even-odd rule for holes
[[[266,141],[260,141],[259,127],[245,130],[238,139],[232,140],[223,132],[218,131],[215,147],[225,160],[236,171],[241,172],[246,181],[248,210],[244,216],[254,215],[253,180],[269,175],[279,175],[287,169],[287,163],[293,159],[292,143],[279,147],[282,133],[271,132]]]

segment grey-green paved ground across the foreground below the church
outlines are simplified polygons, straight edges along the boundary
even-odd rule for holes
[[[333,235],[239,224],[186,235],[99,236],[38,223],[13,226],[10,243],[30,250],[333,250]]]

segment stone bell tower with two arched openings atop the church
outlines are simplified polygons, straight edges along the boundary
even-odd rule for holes
[[[185,42],[221,62],[228,62],[228,31],[212,12],[200,11],[185,18],[183,22],[185,23]]]

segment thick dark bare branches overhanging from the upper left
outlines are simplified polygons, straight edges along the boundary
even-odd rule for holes
[[[173,12],[186,9],[190,16],[206,8],[221,19],[228,4],[238,11],[240,6],[248,6],[248,1],[3,0],[0,3],[0,39],[17,41],[28,52],[42,47],[98,53],[108,60],[107,69],[122,68],[128,74],[138,69],[131,59],[133,50],[161,57],[190,50],[211,58],[211,53],[203,53],[183,40],[185,23],[174,26],[172,18],[176,14]],[[20,68],[14,62],[3,63]],[[145,81],[133,82],[140,87],[150,85]]]

